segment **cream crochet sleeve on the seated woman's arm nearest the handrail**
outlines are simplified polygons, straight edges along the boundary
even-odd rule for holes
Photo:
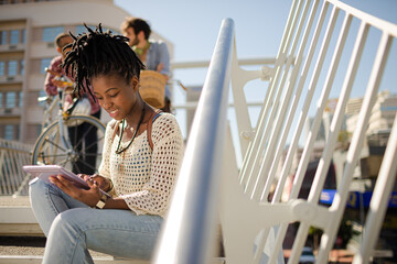
[[[153,123],[153,152],[149,180],[142,190],[121,196],[137,215],[163,216],[169,207],[172,189],[183,156],[183,138],[175,118],[163,114]]]

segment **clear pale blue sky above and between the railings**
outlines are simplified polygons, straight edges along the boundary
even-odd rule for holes
[[[235,22],[238,58],[276,57],[292,0],[114,0],[132,16],[149,22],[152,30],[174,45],[173,62],[210,61],[222,20],[230,18]],[[343,0],[364,12],[397,24],[397,0]],[[396,58],[396,44],[394,44]],[[397,59],[394,59],[397,61]],[[394,69],[397,68],[393,67]],[[259,69],[259,68],[258,68]],[[185,86],[202,86],[206,69],[175,70],[174,78]],[[397,94],[397,75],[389,74],[388,89]],[[246,89],[247,101],[264,98],[266,87],[254,84]],[[354,94],[353,94],[354,95]],[[183,103],[185,92],[174,88],[173,101]],[[358,94],[356,94],[358,96]],[[255,127],[260,109],[250,111]],[[181,127],[185,116],[176,112]],[[186,131],[182,128],[185,135]]]

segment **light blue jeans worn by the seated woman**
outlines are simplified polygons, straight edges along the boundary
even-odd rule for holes
[[[88,249],[150,260],[161,217],[93,209],[39,178],[29,185],[34,216],[47,238],[43,263],[94,263]]]

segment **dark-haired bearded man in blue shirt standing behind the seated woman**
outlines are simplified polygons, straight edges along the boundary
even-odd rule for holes
[[[136,52],[147,69],[157,70],[164,75],[167,80],[171,77],[170,53],[162,41],[149,40],[151,29],[142,19],[127,18],[121,24],[121,32],[127,36],[130,47]],[[171,91],[165,86],[164,112],[171,112]]]

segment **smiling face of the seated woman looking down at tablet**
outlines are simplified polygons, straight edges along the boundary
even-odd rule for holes
[[[138,79],[129,84],[118,74],[100,75],[90,80],[94,95],[112,119],[122,120],[132,116],[138,99]]]

